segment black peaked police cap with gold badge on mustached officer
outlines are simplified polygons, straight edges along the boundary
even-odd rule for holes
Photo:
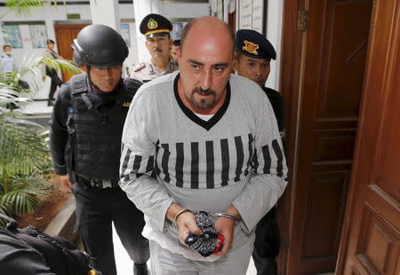
[[[150,13],[140,22],[140,33],[148,37],[156,35],[166,35],[172,31],[170,20],[156,13]]]

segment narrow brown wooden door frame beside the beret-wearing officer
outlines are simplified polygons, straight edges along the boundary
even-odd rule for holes
[[[278,273],[287,271],[288,249],[291,243],[293,222],[293,201],[296,193],[296,169],[298,162],[298,140],[301,115],[301,75],[304,71],[303,59],[306,32],[297,29],[298,11],[306,10],[306,0],[284,0],[283,30],[281,42],[281,67],[279,90],[284,96],[285,148],[289,169],[288,185],[278,206],[278,222],[282,235],[282,249],[277,257]]]

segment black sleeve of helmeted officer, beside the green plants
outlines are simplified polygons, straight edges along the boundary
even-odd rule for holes
[[[67,119],[70,98],[69,95],[66,95],[67,91],[69,91],[68,85],[63,85],[52,110],[52,120],[49,123],[50,151],[54,171],[57,175],[66,175],[68,170],[65,162],[65,149],[68,143]]]

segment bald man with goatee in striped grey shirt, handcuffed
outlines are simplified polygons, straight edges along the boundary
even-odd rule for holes
[[[151,274],[245,274],[254,228],[286,186],[274,111],[231,75],[226,23],[188,23],[180,72],[140,87],[124,124],[120,186],[143,211]]]

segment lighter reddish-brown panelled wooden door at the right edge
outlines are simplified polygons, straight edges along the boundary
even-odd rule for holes
[[[337,274],[400,274],[400,1],[374,1]]]

